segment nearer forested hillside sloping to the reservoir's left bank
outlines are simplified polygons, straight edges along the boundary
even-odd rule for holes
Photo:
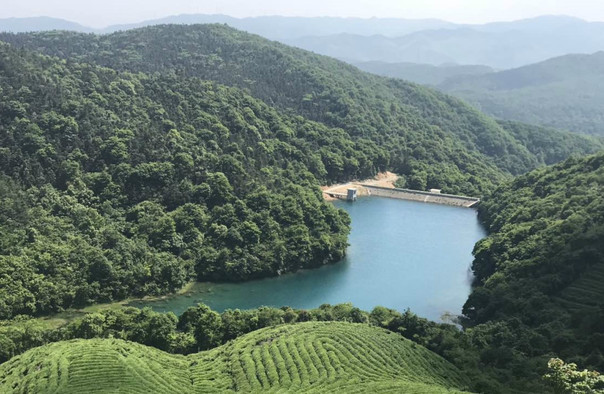
[[[318,180],[387,163],[369,141],[197,79],[6,44],[0,70],[0,318],[338,261],[349,218]]]

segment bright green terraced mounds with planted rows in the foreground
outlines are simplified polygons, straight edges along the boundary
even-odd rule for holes
[[[190,356],[120,340],[57,342],[0,366],[0,392],[459,392],[444,359],[385,330],[300,323]]]

